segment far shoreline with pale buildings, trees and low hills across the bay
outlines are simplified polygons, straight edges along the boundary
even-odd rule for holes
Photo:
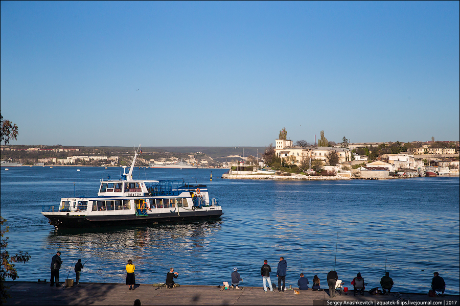
[[[196,168],[231,168],[229,174],[274,174],[335,176],[340,178],[394,178],[415,176],[459,175],[459,142],[373,142],[350,143],[346,137],[336,144],[321,131],[313,144],[287,138],[283,129],[256,156],[244,148],[225,150],[227,155],[208,156],[202,152],[148,152],[139,158],[139,166],[168,168],[178,162]],[[125,166],[131,154],[128,148],[89,148],[65,146],[12,146],[0,148],[2,166]],[[243,150],[241,152],[241,150]],[[246,148],[246,152],[250,151]],[[115,155],[116,154],[116,155]],[[241,168],[243,167],[243,168]]]

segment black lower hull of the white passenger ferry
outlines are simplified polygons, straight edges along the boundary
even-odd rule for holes
[[[212,219],[222,216],[222,209],[214,211],[199,209],[194,211],[167,214],[150,214],[147,216],[135,215],[113,215],[113,216],[63,216],[43,214],[49,219],[51,225],[56,229],[62,228],[83,228],[83,227],[104,227],[104,226],[125,226],[125,225],[153,225],[165,222],[182,222],[192,220]]]

